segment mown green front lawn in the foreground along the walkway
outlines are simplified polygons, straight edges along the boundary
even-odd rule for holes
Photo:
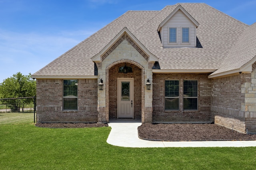
[[[0,125],[3,170],[255,169],[256,147],[124,148],[106,143],[110,127],[49,129]]]

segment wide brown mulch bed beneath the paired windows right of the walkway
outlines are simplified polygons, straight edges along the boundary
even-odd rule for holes
[[[141,139],[160,141],[218,141],[218,140],[256,140],[256,135],[239,133],[216,124],[151,124],[138,127]]]

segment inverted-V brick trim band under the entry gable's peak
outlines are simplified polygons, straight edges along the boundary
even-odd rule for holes
[[[134,49],[136,49],[136,51],[138,51],[138,53],[140,53],[140,55],[142,55],[142,57],[148,61],[148,55],[146,53],[144,53],[144,51],[142,51],[142,49],[136,44],[134,43],[134,41],[126,34],[124,33],[117,41],[116,43],[114,43],[110,49],[108,49],[108,51],[106,51],[103,55],[102,55],[102,61],[104,61],[104,59],[106,59],[108,57],[108,55],[110,55],[112,53],[112,51],[114,51],[116,49],[116,47],[118,47],[118,45],[120,45],[124,40],[128,41],[128,43],[130,43],[130,45],[132,45],[132,47],[134,47]]]

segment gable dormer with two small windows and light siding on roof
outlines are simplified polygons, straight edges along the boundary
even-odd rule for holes
[[[196,47],[199,23],[179,5],[158,27],[162,47]]]

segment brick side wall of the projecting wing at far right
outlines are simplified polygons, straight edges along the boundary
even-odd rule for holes
[[[212,79],[212,117],[216,124],[220,124],[237,131],[245,132],[244,94],[241,87],[248,81],[246,75],[235,75]]]

